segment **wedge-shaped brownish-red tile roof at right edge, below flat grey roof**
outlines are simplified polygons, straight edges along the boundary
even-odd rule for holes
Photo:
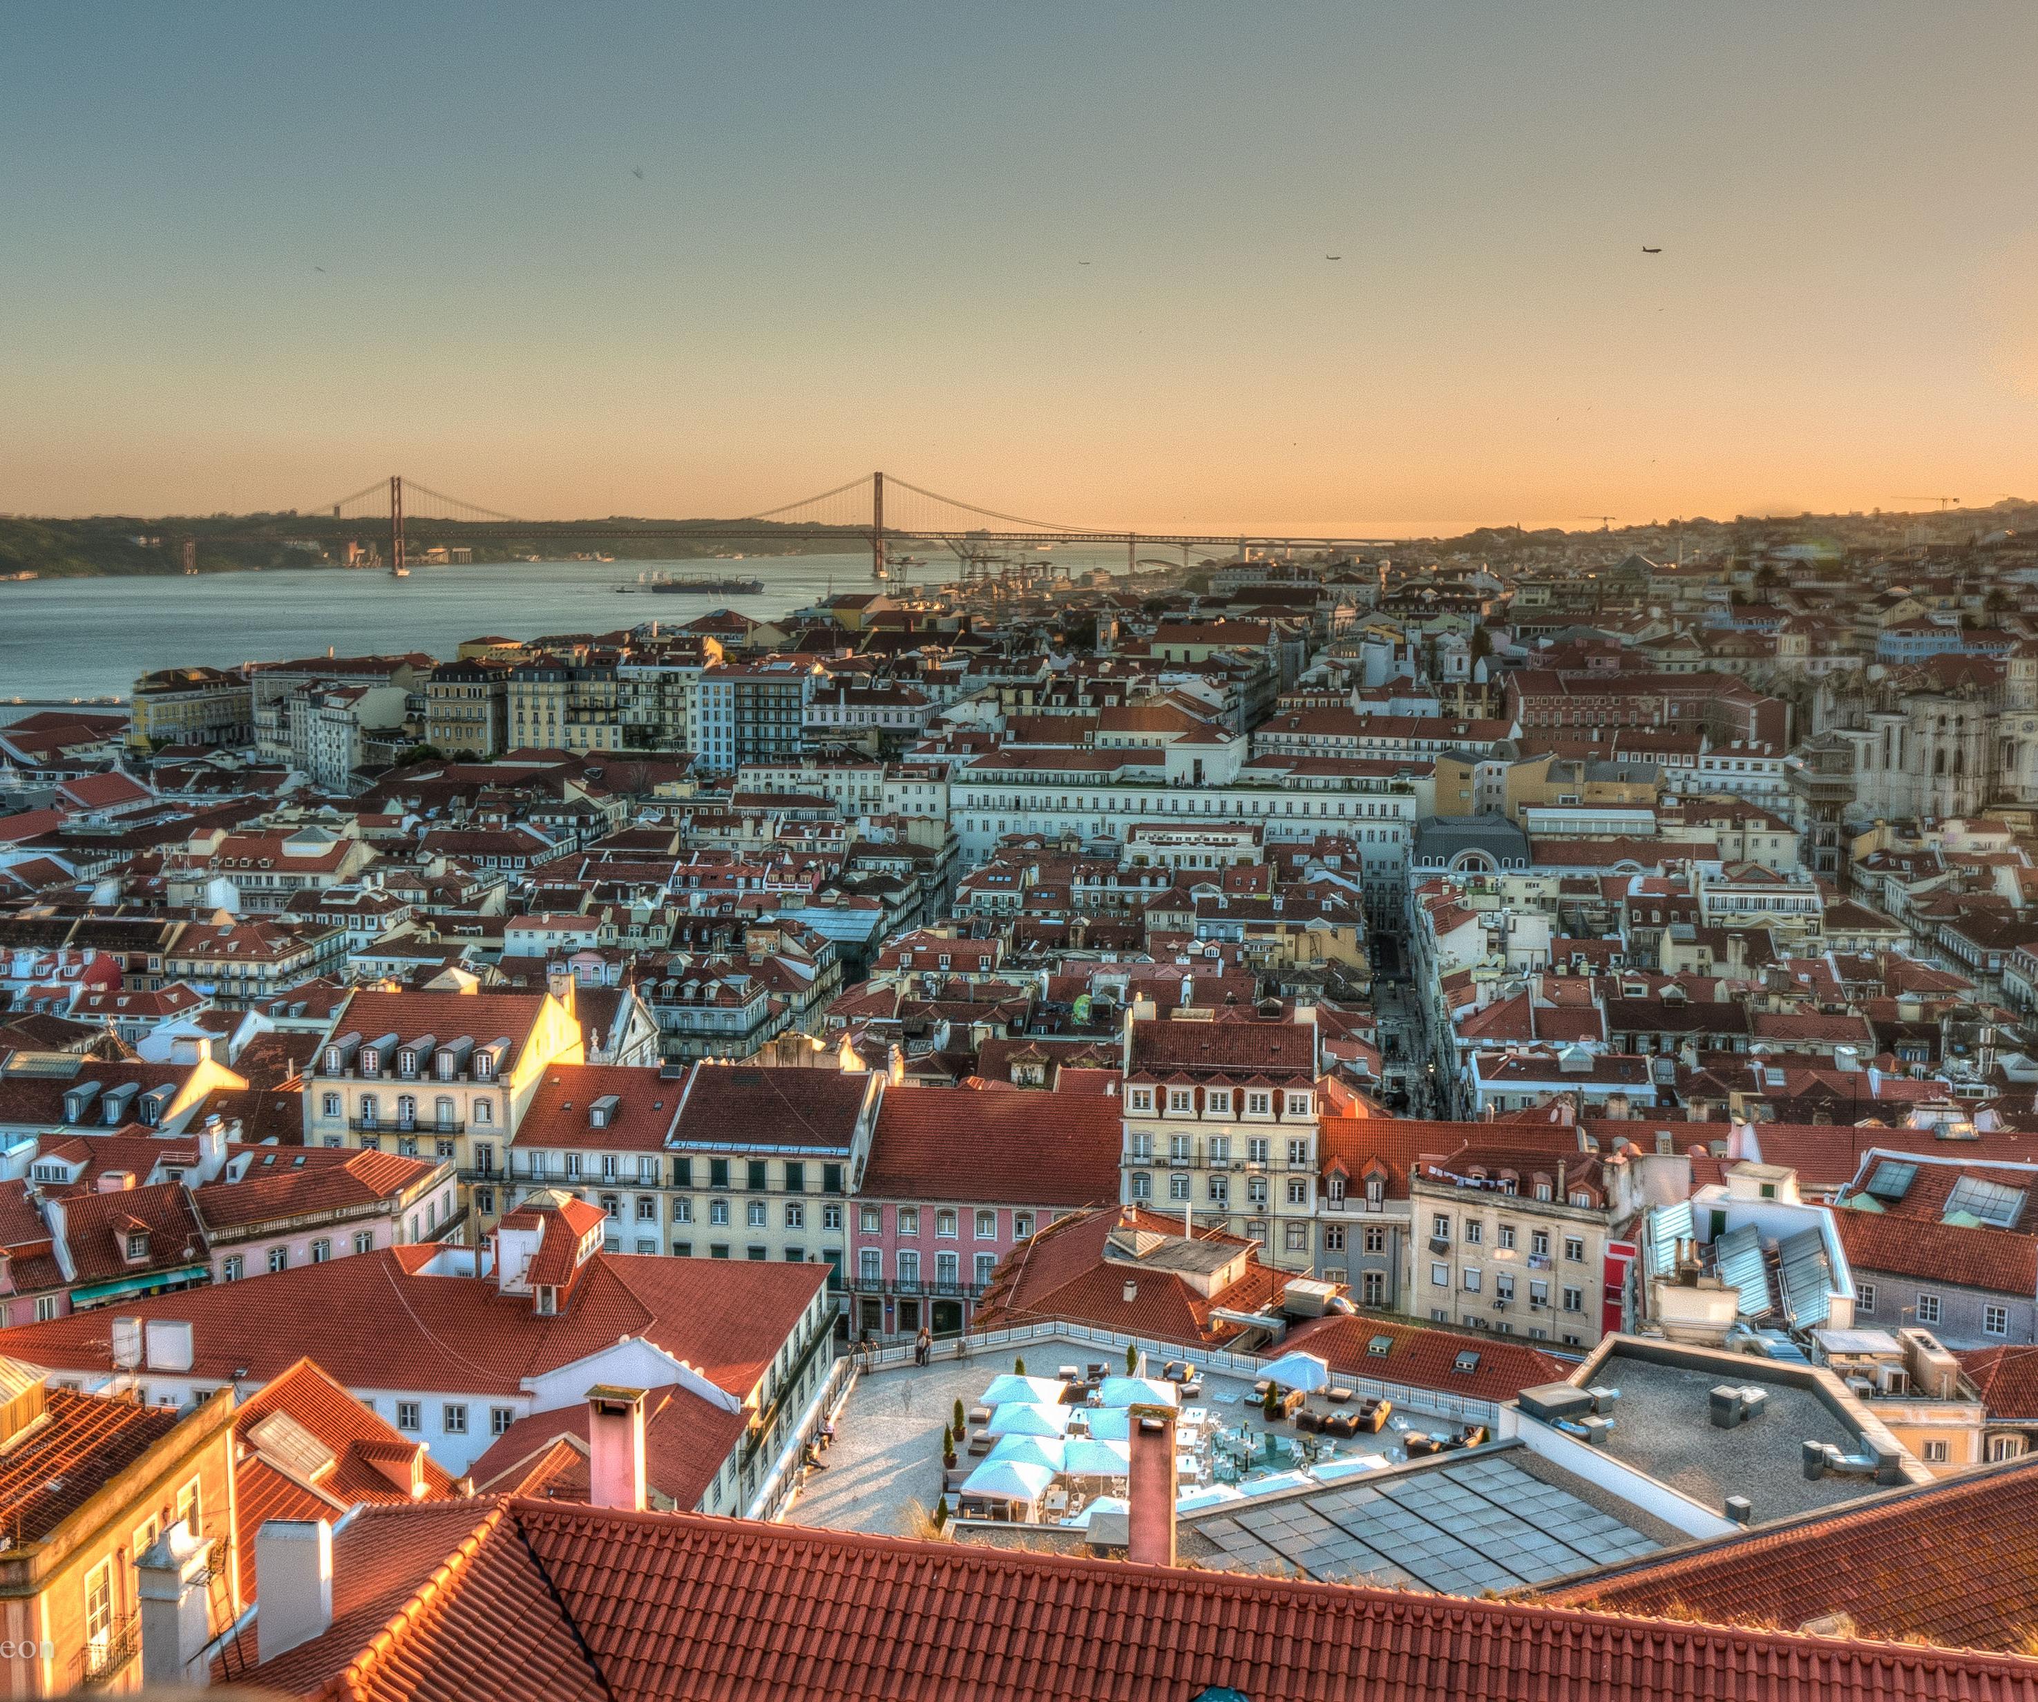
[[[1545,1596],[1624,1614],[2028,1649],[2038,1635],[2038,1459],[1967,1472],[1577,1580]]]

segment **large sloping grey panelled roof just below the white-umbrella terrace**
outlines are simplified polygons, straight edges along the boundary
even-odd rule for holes
[[[1657,1543],[1502,1455],[1194,1521],[1245,1572],[1478,1596],[1655,1553]]]

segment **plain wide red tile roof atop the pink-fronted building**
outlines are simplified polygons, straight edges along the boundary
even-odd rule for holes
[[[878,1107],[860,1192],[899,1201],[1107,1205],[1119,1196],[1119,1113],[1117,1099],[1094,1093],[893,1086]]]

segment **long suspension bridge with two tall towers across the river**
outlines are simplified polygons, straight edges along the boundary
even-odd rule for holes
[[[267,516],[265,516],[267,520]],[[980,508],[944,497],[887,473],[864,473],[799,501],[762,508],[734,520],[656,522],[611,516],[607,520],[528,520],[493,508],[448,497],[404,475],[377,479],[344,497],[275,516],[281,530],[312,536],[340,536],[387,528],[389,569],[408,569],[426,542],[503,542],[560,546],[573,542],[673,538],[685,542],[803,540],[842,542],[870,550],[872,579],[889,579],[897,550],[944,548],[964,575],[980,571],[995,552],[1015,544],[1123,546],[1127,567],[1141,563],[1145,548],[1178,548],[1184,565],[1192,548],[1247,550],[1351,550],[1386,548],[1394,538],[1351,536],[1259,536],[1247,532],[1137,532],[1123,526],[1072,526],[1027,520],[1019,514]],[[261,542],[275,532],[208,534],[185,538],[185,567],[194,565],[200,542]]]

